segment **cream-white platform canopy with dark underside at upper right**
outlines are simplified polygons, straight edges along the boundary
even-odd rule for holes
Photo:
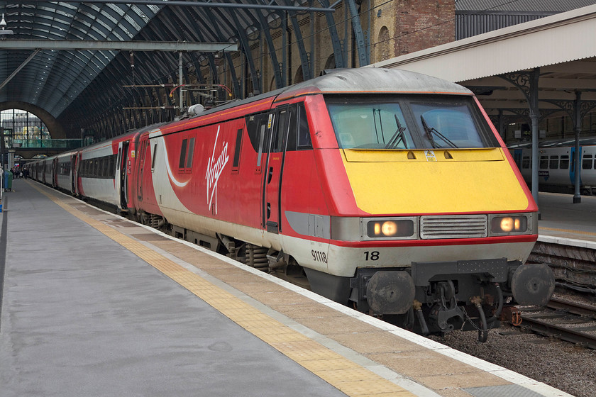
[[[494,121],[596,108],[596,5],[428,48],[371,67],[407,69],[471,89]],[[578,101],[579,99],[579,101]]]

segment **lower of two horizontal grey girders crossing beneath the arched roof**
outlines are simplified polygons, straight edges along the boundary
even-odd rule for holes
[[[238,51],[236,43],[188,43],[150,41],[105,41],[105,40],[0,40],[4,50],[110,50],[110,51]]]

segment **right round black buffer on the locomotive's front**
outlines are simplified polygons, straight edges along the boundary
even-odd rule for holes
[[[555,291],[555,276],[546,264],[522,264],[512,276],[511,290],[520,305],[545,306]]]

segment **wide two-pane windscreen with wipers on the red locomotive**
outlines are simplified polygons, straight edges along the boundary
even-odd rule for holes
[[[498,147],[468,96],[327,96],[344,149]]]

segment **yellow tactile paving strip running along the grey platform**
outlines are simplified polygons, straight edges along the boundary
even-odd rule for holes
[[[201,298],[234,323],[274,347],[316,376],[327,381],[339,391],[355,397],[415,396],[373,371],[360,367],[346,357],[292,330],[269,315],[258,311],[231,293],[211,284],[201,276],[151,250],[140,242],[123,235],[114,228],[99,222],[73,208],[59,198],[32,185],[48,196],[65,211],[96,228],[118,244],[130,250],[160,272]]]

